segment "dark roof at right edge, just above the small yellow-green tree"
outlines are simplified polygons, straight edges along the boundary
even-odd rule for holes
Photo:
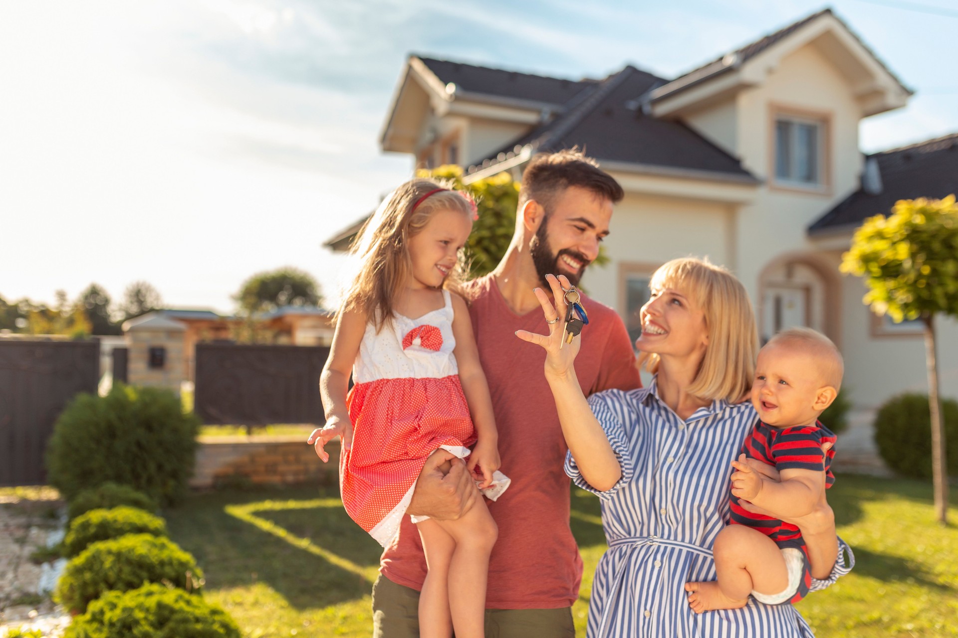
[[[869,167],[870,163],[874,163]],[[958,133],[870,155],[863,185],[809,227],[810,234],[847,231],[900,199],[958,193]],[[869,170],[876,174],[868,175]]]

